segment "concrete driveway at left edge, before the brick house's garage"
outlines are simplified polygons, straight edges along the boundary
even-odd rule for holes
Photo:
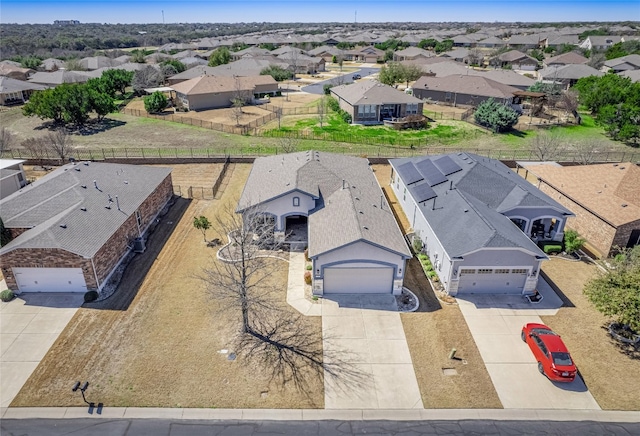
[[[0,407],[8,407],[82,305],[83,294],[22,294],[0,305]]]

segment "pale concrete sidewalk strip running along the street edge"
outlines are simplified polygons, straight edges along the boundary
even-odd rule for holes
[[[2,419],[172,419],[238,421],[593,421],[640,422],[640,412],[550,409],[160,409],[144,407],[105,407],[89,413],[87,407],[2,408]]]

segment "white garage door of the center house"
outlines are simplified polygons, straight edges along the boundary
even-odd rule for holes
[[[326,268],[325,294],[390,294],[393,268]]]

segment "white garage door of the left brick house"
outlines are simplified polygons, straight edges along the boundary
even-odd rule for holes
[[[86,292],[81,268],[13,268],[21,292]]]

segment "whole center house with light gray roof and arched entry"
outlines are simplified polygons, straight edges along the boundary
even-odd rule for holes
[[[317,151],[257,158],[236,211],[264,220],[293,249],[308,247],[315,295],[402,291],[411,251],[366,159]]]

